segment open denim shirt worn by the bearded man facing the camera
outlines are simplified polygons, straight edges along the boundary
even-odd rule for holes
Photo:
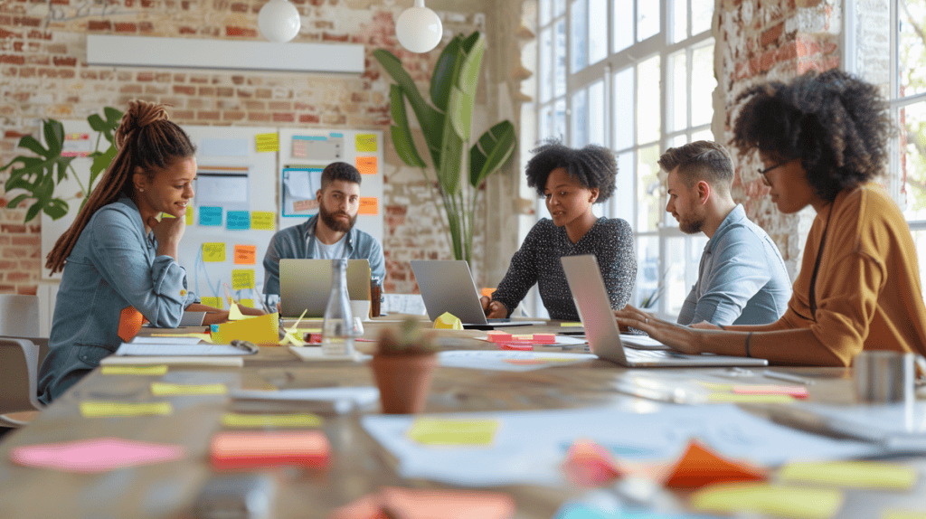
[[[271,301],[269,296],[280,295],[280,260],[313,259],[315,257],[315,226],[318,222],[319,215],[316,214],[297,226],[282,229],[270,239],[267,253],[264,255],[264,294],[271,306],[276,303]],[[386,263],[382,257],[382,245],[357,227],[347,232],[344,258],[369,260],[370,276],[380,278],[381,283],[385,278]]]

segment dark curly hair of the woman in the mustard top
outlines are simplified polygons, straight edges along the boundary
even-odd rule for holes
[[[874,85],[841,70],[809,71],[750,88],[736,98],[744,100],[733,144],[744,154],[799,158],[823,200],[883,173],[893,127]]]

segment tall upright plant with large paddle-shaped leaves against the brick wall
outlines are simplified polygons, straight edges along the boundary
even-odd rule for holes
[[[515,127],[503,120],[469,146],[476,86],[482,67],[485,38],[479,31],[457,35],[437,60],[431,77],[431,103],[424,100],[402,62],[385,49],[373,51],[382,68],[396,84],[389,88],[390,128],[395,152],[410,167],[419,167],[427,178],[428,165],[421,158],[408,126],[406,100],[418,119],[428,145],[432,167],[444,203],[446,230],[454,257],[472,260],[472,236],[476,200],[486,177],[498,171],[515,150]],[[469,148],[469,154],[467,149]],[[469,174],[463,178],[464,165]],[[435,201],[436,204],[436,201]],[[440,212],[440,211],[439,211]]]

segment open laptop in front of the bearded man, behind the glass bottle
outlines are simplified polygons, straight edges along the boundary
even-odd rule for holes
[[[332,293],[332,260],[280,260],[280,312],[284,319],[322,317]],[[369,260],[347,260],[347,293],[351,301],[369,301]]]

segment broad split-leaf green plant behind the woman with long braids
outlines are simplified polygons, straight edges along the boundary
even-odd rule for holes
[[[69,204],[66,200],[55,196],[55,188],[62,180],[67,179],[69,173],[74,176],[77,183],[81,186],[83,192],[83,204],[87,203],[90,192],[94,189],[94,182],[106,170],[109,163],[116,157],[116,144],[113,142],[113,134],[119,127],[119,119],[122,118],[122,112],[111,106],[103,109],[104,119],[98,114],[87,117],[90,128],[97,131],[96,143],[93,153],[87,155],[93,160],[90,166],[90,178],[87,179],[86,185],[71,166],[73,156],[63,156],[64,151],[64,126],[55,119],[44,119],[42,121],[42,130],[44,133],[45,144],[42,145],[31,135],[26,135],[19,139],[19,147],[25,148],[38,156],[18,155],[9,161],[0,171],[10,169],[9,179],[6,179],[6,192],[13,190],[22,190],[16,197],[10,200],[7,207],[17,207],[24,200],[33,199],[34,202],[26,210],[25,221],[30,221],[40,212],[51,216],[53,220],[61,218],[68,214]],[[102,139],[109,142],[109,147],[105,151],[100,151],[100,142]],[[13,167],[19,163],[20,167]]]

